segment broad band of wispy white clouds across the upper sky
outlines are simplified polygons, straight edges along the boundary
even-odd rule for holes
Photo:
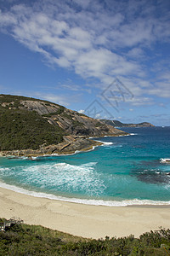
[[[169,69],[159,80],[151,66],[148,82],[147,55],[158,42],[170,42],[167,7],[167,1],[146,0],[15,3],[0,12],[0,27],[42,55],[48,65],[97,79],[102,89],[121,77],[136,97],[133,105],[149,104],[145,94],[170,97]],[[71,89],[69,84],[63,86]]]

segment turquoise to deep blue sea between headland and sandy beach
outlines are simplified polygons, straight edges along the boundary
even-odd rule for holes
[[[95,138],[72,155],[0,158],[0,187],[84,204],[170,205],[170,127],[123,128],[126,137]]]

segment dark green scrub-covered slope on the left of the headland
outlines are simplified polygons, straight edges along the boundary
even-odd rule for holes
[[[37,149],[42,144],[61,143],[64,131],[50,125],[36,111],[21,108],[23,98],[0,96],[0,150]]]

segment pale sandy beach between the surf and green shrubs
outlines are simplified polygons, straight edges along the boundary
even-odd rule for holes
[[[0,188],[0,217],[20,217],[76,236],[138,237],[159,227],[170,228],[170,207],[99,207],[54,201]]]

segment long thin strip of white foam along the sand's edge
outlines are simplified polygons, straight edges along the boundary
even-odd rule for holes
[[[170,201],[151,201],[151,200],[123,200],[123,201],[104,201],[104,200],[88,200],[88,199],[78,199],[78,198],[66,198],[62,196],[46,194],[46,193],[38,193],[34,191],[29,191],[23,188],[19,188],[13,185],[8,185],[6,183],[0,182],[0,187],[3,189],[9,189],[14,192],[24,194],[24,195],[31,195],[34,197],[41,197],[47,198],[50,200],[56,201],[67,201],[67,202],[74,202],[84,205],[94,205],[94,206],[104,206],[104,207],[128,207],[128,206],[169,206]]]

